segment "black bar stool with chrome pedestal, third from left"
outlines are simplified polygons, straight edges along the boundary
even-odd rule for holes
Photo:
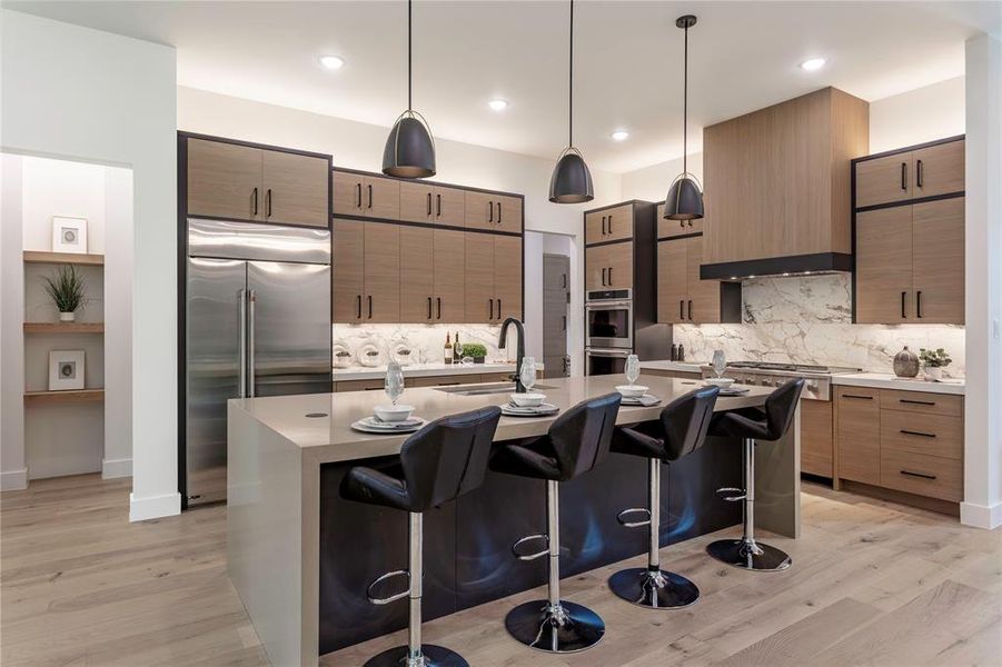
[[[627,603],[671,609],[688,607],[700,599],[695,584],[661,569],[661,464],[676,461],[703,446],[720,391],[716,387],[690,391],[665,406],[658,421],[617,427],[613,435],[612,451],[648,459],[647,507],[624,509],[616,516],[627,528],[648,527],[647,567],[619,570],[608,580],[612,591]],[[627,520],[635,512],[646,515],[646,520]]]

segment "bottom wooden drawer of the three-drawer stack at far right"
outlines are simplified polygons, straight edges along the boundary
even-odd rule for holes
[[[964,497],[964,464],[960,459],[884,447],[880,484],[889,489],[960,502]]]

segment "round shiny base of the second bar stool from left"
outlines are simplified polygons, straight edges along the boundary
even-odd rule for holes
[[[505,617],[508,634],[529,648],[566,654],[591,648],[605,635],[602,618],[582,605],[546,600],[518,605]]]

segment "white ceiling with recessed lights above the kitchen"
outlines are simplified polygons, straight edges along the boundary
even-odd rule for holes
[[[4,0],[4,7],[178,50],[178,83],[389,126],[404,110],[406,4]],[[555,158],[567,138],[566,1],[420,0],[414,106],[437,137]],[[642,2],[575,6],[575,143],[596,169],[681,156],[682,37],[691,127],[824,86],[866,100],[963,73],[964,40],[998,34],[1002,2]],[[337,72],[320,54],[343,57]],[[798,63],[824,57],[805,72]],[[86,57],[86,54],[81,54]],[[503,113],[487,100],[510,101]],[[618,128],[631,137],[609,139]],[[698,149],[698,132],[691,149]],[[374,150],[380,150],[375,147]]]

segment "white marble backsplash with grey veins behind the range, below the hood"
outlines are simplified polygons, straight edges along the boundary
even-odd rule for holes
[[[756,278],[742,283],[741,325],[675,325],[687,361],[706,362],[723,349],[733,361],[847,366],[892,372],[903,346],[944,348],[946,377],[963,377],[964,328],[956,325],[853,325],[846,273]]]

